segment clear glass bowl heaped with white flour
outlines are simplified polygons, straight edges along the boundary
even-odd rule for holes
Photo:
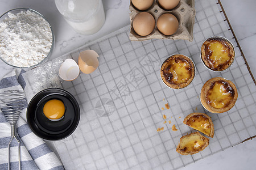
[[[45,62],[53,49],[51,25],[39,12],[15,8],[0,17],[0,58],[13,67],[35,67]]]

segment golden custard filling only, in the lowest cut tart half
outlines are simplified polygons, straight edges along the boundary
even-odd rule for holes
[[[205,145],[205,142],[199,135],[193,135],[189,138],[184,138],[180,146],[180,151],[191,152],[198,151]]]

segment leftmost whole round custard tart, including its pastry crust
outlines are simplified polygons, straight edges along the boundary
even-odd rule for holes
[[[184,88],[195,77],[195,64],[187,56],[175,54],[163,62],[160,75],[166,86],[175,89]]]

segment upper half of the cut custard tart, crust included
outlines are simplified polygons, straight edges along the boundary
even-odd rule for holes
[[[188,114],[188,116],[184,118],[183,123],[193,129],[201,131],[201,133],[208,135],[208,137],[213,138],[214,136],[213,122],[205,113]]]

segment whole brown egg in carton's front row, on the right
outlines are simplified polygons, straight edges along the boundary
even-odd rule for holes
[[[161,33],[169,36],[177,31],[179,28],[179,21],[176,16],[166,13],[159,16],[158,21],[156,22],[156,27],[158,27],[158,30]]]

